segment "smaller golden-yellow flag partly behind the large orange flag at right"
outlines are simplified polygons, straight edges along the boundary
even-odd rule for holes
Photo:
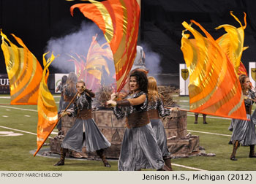
[[[222,50],[227,54],[227,57],[233,63],[236,73],[241,64],[241,56],[244,51],[244,29],[246,28],[246,13],[244,13],[244,26],[242,26],[240,20],[233,15],[230,11],[230,15],[235,18],[235,20],[240,24],[240,28],[231,26],[228,24],[218,26],[216,29],[225,28],[226,34],[219,37],[216,42],[222,48]]]

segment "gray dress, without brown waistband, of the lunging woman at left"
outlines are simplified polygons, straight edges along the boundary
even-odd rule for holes
[[[85,92],[81,96],[77,96],[74,103],[74,111],[72,117],[77,117],[78,110],[91,110],[91,97]],[[77,118],[65,136],[61,147],[78,152],[82,151],[82,147],[86,147],[86,151],[95,151],[110,147],[110,142],[99,131],[93,118],[81,119]]]

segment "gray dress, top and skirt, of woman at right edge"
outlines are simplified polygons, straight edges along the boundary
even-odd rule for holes
[[[255,99],[255,93],[249,91],[249,99]],[[252,100],[244,100],[246,108],[249,108],[253,104]],[[239,143],[243,146],[256,145],[256,134],[255,134],[255,122],[256,122],[256,112],[253,112],[252,117],[249,114],[246,114],[247,119],[251,120],[238,120],[232,119],[230,128],[233,128],[233,134],[231,141],[235,142],[238,140]],[[229,128],[229,129],[230,129]]]

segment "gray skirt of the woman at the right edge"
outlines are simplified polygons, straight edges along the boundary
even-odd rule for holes
[[[255,114],[255,113],[254,113]],[[251,115],[246,115],[247,119],[251,119]],[[253,120],[232,119],[233,134],[231,141],[238,141],[243,146],[256,145],[255,124]]]

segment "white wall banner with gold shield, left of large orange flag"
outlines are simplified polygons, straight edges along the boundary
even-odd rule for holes
[[[186,64],[179,64],[179,95],[189,95],[189,70]]]

